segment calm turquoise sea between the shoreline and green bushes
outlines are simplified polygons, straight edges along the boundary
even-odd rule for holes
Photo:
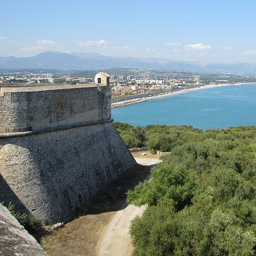
[[[191,124],[194,128],[256,126],[256,84],[190,91],[112,109],[114,121],[132,125]]]

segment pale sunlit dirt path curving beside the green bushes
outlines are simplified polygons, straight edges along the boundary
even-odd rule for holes
[[[146,159],[135,157],[140,165],[156,165],[158,159]],[[115,214],[106,229],[103,239],[100,243],[98,256],[129,256],[132,252],[132,245],[129,237],[130,221],[136,216],[141,215],[144,207],[136,207],[125,203]]]

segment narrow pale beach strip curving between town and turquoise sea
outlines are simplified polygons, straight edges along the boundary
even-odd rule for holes
[[[112,103],[112,109],[132,105],[132,104],[136,104],[136,103],[145,102],[147,100],[154,100],[154,99],[157,99],[157,98],[160,98],[160,97],[167,97],[167,96],[171,96],[171,95],[175,95],[175,94],[186,93],[186,92],[189,92],[189,91],[197,91],[197,90],[203,90],[203,89],[209,89],[209,88],[215,88],[215,87],[222,87],[222,86],[231,86],[231,85],[254,84],[254,83],[255,82],[236,83],[236,84],[203,85],[203,86],[196,87],[196,88],[182,89],[182,90],[179,90],[179,91],[169,92],[169,93],[166,93],[166,94],[155,95],[155,96],[146,97],[146,98],[124,100],[124,101],[121,101],[121,102],[118,102],[118,103]]]

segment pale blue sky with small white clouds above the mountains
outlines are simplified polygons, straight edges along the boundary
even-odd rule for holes
[[[1,0],[0,56],[256,63],[255,0]]]

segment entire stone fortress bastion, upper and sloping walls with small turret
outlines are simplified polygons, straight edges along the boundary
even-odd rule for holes
[[[135,165],[110,97],[108,84],[2,88],[0,201],[45,224],[67,221]]]

